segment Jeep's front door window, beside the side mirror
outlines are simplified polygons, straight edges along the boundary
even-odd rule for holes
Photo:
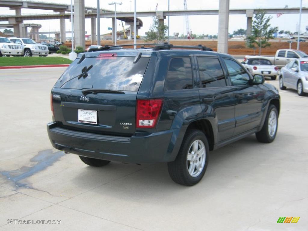
[[[250,77],[246,71],[235,61],[231,59],[224,59],[227,66],[231,83],[233,86],[247,85]]]

